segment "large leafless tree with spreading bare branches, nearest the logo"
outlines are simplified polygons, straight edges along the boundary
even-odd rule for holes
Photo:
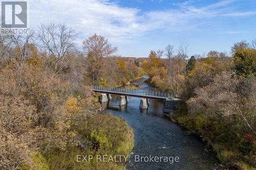
[[[65,23],[58,25],[55,23],[50,23],[50,25],[41,24],[37,36],[40,40],[42,50],[45,50],[49,55],[55,57],[55,69],[59,61],[61,61],[68,52],[76,52],[77,50],[77,46],[74,43],[77,34],[72,28],[68,28]]]

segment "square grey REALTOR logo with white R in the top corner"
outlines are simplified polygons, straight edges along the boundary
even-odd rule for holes
[[[1,9],[2,28],[27,28],[27,2],[2,1]]]

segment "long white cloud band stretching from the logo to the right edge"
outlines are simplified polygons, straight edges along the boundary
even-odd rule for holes
[[[197,8],[193,1],[179,4],[178,9],[144,12],[120,7],[108,0],[33,0],[30,1],[31,25],[41,22],[65,22],[87,38],[94,33],[111,42],[135,41],[149,31],[184,31],[199,28],[210,18],[255,15],[255,11],[237,12],[229,7],[234,0],[220,1]]]

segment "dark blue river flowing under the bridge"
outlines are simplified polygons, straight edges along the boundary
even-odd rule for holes
[[[136,80],[141,89],[154,90],[154,87]],[[150,100],[148,110],[140,110],[140,98],[129,97],[126,106],[119,107],[120,96],[112,95],[105,108],[106,113],[122,117],[133,128],[135,146],[127,164],[127,169],[217,169],[218,161],[214,153],[200,138],[190,134],[177,123],[164,118],[163,102]],[[118,134],[117,134],[118,135]],[[167,157],[168,161],[153,161],[140,157]],[[177,161],[172,161],[172,158]],[[136,159],[135,159],[136,158]]]

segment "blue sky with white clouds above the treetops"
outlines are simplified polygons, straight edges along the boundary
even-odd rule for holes
[[[147,57],[168,44],[188,44],[188,55],[230,52],[233,43],[256,39],[255,0],[31,0],[30,28],[64,22],[79,46],[94,33],[123,57]]]

